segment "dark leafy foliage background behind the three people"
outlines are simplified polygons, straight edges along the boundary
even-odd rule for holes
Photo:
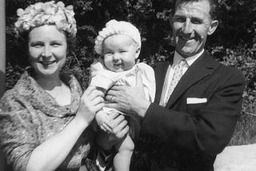
[[[10,89],[28,65],[26,53],[14,35],[16,10],[39,2],[6,1],[6,87]],[[45,2],[45,1],[42,1]],[[141,61],[153,63],[174,54],[168,16],[174,0],[63,0],[73,5],[78,24],[77,45],[63,70],[71,70],[86,88],[94,58],[94,38],[114,18],[134,23],[142,34]],[[246,78],[242,115],[230,145],[256,142],[256,1],[220,0],[218,30],[207,40],[206,50]]]

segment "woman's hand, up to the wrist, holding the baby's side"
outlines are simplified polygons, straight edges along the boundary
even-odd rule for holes
[[[104,106],[104,93],[95,86],[89,86],[82,94],[76,118],[85,125],[90,125],[97,113]]]

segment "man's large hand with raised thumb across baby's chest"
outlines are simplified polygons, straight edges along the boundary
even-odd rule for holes
[[[150,101],[147,101],[145,97],[141,71],[137,73],[136,86],[114,85],[106,93],[106,101],[110,101],[110,103],[106,103],[106,107],[144,117],[146,110],[150,106]]]

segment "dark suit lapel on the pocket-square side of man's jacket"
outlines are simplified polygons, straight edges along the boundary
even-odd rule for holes
[[[189,67],[186,73],[182,76],[173,93],[170,95],[169,101],[166,104],[166,108],[170,108],[170,106],[178,100],[178,97],[180,97],[186,89],[209,75],[216,66],[218,66],[218,62],[214,61],[213,58],[210,58],[210,55],[205,50],[205,52]]]

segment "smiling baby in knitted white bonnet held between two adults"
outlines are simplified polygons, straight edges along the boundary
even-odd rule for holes
[[[94,85],[106,93],[112,85],[136,85],[138,71],[142,73],[142,84],[147,100],[154,101],[154,70],[145,63],[138,63],[141,50],[141,37],[138,29],[130,22],[110,20],[99,32],[94,49],[102,55],[99,62],[91,65],[90,85]],[[138,118],[128,116],[116,109],[104,107],[96,113],[96,121],[100,129],[109,133],[112,130],[109,113],[118,112],[126,115],[130,125],[128,135],[114,148],[118,153],[114,156],[114,170],[128,171],[130,158],[134,151],[134,141],[138,138],[140,124]]]

